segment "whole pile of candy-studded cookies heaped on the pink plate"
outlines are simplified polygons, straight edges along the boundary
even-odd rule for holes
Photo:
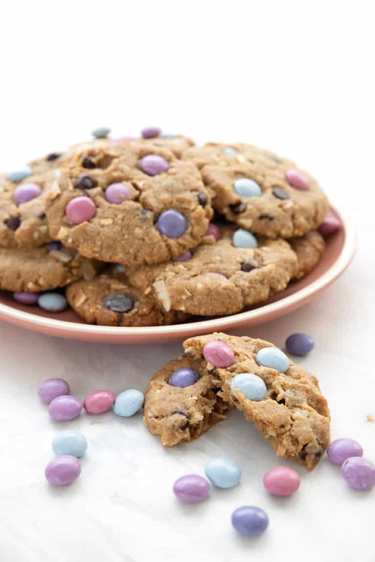
[[[174,324],[240,312],[317,264],[328,201],[293,162],[156,128],[142,137],[74,145],[0,178],[1,289],[28,302],[65,287],[92,324]]]

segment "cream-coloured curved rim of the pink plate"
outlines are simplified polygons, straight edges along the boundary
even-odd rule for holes
[[[245,312],[238,312],[237,314],[232,314],[229,316],[220,316],[219,318],[211,320],[199,320],[191,323],[182,324],[171,324],[166,326],[145,326],[145,327],[118,327],[118,326],[98,326],[96,324],[84,324],[75,323],[66,320],[56,320],[55,318],[48,318],[46,316],[39,316],[37,314],[31,314],[30,312],[25,312],[22,310],[17,310],[12,306],[4,305],[0,303],[0,318],[5,321],[10,321],[22,325],[27,329],[47,329],[55,331],[57,333],[53,334],[56,336],[64,337],[64,334],[69,334],[74,332],[76,334],[82,334],[82,336],[93,336],[103,337],[107,336],[123,336],[124,343],[126,342],[126,337],[146,337],[146,336],[168,336],[168,334],[173,334],[176,337],[178,334],[185,334],[188,332],[201,332],[202,328],[207,328],[207,333],[215,330],[215,325],[220,324],[220,329],[230,329],[236,327],[238,324],[246,324],[246,321],[250,321],[256,318],[264,317],[268,318],[270,315],[278,312],[284,308],[293,307],[297,303],[303,303],[309,297],[313,297],[314,294],[318,293],[322,289],[328,287],[337,277],[343,273],[343,271],[350,264],[353,259],[355,252],[355,241],[356,232],[353,220],[350,217],[349,211],[337,209],[337,206],[333,209],[340,216],[342,222],[342,228],[344,229],[344,245],[340,255],[337,260],[331,265],[323,275],[315,279],[313,282],[306,285],[290,294],[287,297],[282,298],[279,301],[269,303],[268,305],[257,307],[256,309],[248,310]],[[68,336],[69,337],[69,336]],[[70,336],[71,339],[73,339]]]

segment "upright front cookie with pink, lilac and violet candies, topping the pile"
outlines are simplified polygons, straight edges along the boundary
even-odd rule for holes
[[[204,236],[210,190],[194,164],[142,141],[93,148],[65,166],[47,200],[52,236],[126,266],[183,255]]]

